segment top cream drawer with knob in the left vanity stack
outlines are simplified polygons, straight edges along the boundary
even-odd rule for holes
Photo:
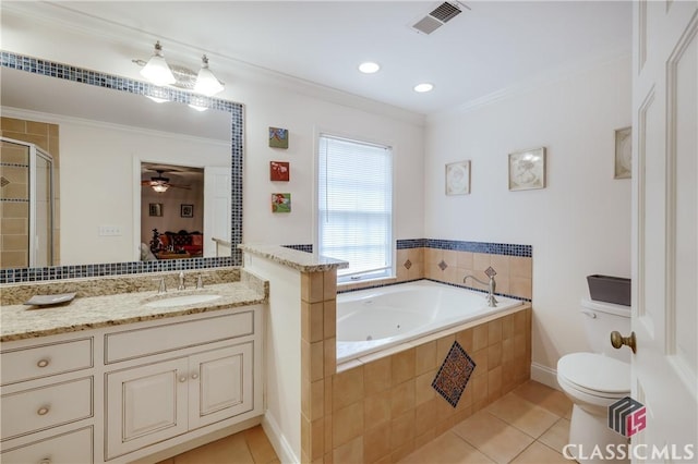
[[[0,383],[5,386],[93,367],[92,338],[47,343],[0,354]]]

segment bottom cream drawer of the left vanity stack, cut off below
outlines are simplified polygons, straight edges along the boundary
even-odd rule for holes
[[[3,464],[89,464],[94,462],[92,427],[3,451],[0,454],[0,462]]]

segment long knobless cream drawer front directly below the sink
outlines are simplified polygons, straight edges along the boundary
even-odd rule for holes
[[[254,333],[253,309],[105,335],[105,364]]]

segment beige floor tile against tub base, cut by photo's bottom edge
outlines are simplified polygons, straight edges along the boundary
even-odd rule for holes
[[[493,462],[452,431],[436,437],[398,461],[399,464],[491,464]]]

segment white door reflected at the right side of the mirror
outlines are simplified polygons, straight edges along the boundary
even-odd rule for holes
[[[212,239],[230,243],[230,168],[204,169],[204,256],[216,256]]]

